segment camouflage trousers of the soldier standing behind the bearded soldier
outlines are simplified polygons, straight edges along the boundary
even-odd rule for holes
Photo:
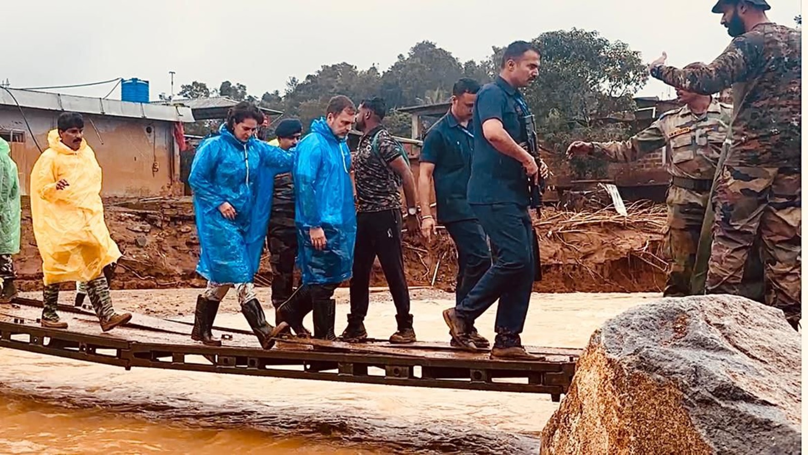
[[[667,234],[663,254],[669,263],[663,296],[690,296],[693,267],[701,237],[709,191],[694,191],[671,185],[667,190]],[[755,249],[743,269],[742,295],[763,303],[763,264]]]

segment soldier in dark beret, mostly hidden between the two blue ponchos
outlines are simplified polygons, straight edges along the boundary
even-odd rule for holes
[[[278,137],[269,143],[288,151],[300,141],[302,132],[301,121],[287,118],[280,121],[275,129]],[[277,309],[280,304],[292,296],[294,287],[297,228],[295,227],[295,187],[292,183],[291,172],[275,176],[267,243],[269,244],[269,262],[272,267],[272,306]]]

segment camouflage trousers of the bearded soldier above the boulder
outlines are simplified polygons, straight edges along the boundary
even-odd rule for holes
[[[744,266],[760,242],[764,301],[792,325],[802,317],[799,168],[726,166],[718,178],[707,291],[743,295]]]

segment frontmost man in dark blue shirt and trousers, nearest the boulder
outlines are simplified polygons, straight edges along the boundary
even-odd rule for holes
[[[444,311],[452,338],[469,351],[473,321],[499,299],[491,357],[535,359],[522,346],[520,333],[528,313],[535,257],[528,214],[528,179],[539,166],[526,150],[529,110],[518,90],[539,72],[539,53],[525,41],[508,45],[499,77],[478,92],[473,109],[474,151],[468,200],[496,252],[494,266],[457,308]],[[542,166],[542,174],[546,174]]]

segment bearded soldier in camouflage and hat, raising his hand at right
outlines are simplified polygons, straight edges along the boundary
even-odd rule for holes
[[[760,241],[766,304],[796,330],[802,317],[802,34],[772,23],[765,0],[719,0],[714,13],[734,40],[703,68],[660,57],[650,74],[673,87],[715,93],[732,87],[730,149],[713,199],[716,219],[707,291],[741,294],[747,258]]]

